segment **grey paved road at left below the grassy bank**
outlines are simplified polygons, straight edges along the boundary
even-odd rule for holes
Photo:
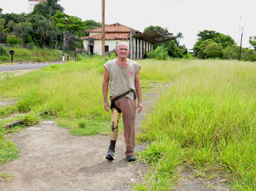
[[[0,72],[14,72],[21,70],[35,70],[44,68],[53,64],[64,64],[64,63],[34,63],[34,64],[15,64],[15,65],[0,65]]]

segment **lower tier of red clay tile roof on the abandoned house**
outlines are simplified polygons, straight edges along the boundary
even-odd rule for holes
[[[80,38],[81,40],[86,40],[86,39],[102,39],[101,34],[96,34],[92,36],[85,36]],[[110,39],[119,39],[119,40],[129,40],[130,39],[130,33],[127,32],[115,32],[115,33],[105,33],[105,39],[110,40]]]

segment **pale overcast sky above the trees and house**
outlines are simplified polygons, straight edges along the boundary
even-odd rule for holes
[[[3,13],[28,13],[28,0],[0,0]],[[101,0],[61,0],[64,13],[101,22]],[[244,27],[242,47],[256,36],[256,0],[105,0],[105,24],[120,23],[143,32],[159,25],[176,35],[183,33],[188,49],[193,48],[199,31],[215,30],[239,41],[240,16]],[[240,38],[242,31],[240,30]]]

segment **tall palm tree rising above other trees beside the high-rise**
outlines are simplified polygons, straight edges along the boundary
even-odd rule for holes
[[[60,0],[47,0],[47,2],[38,3],[33,10],[33,15],[42,15],[49,19],[49,24],[52,24],[52,16],[58,11],[64,12],[64,8],[57,4]]]

